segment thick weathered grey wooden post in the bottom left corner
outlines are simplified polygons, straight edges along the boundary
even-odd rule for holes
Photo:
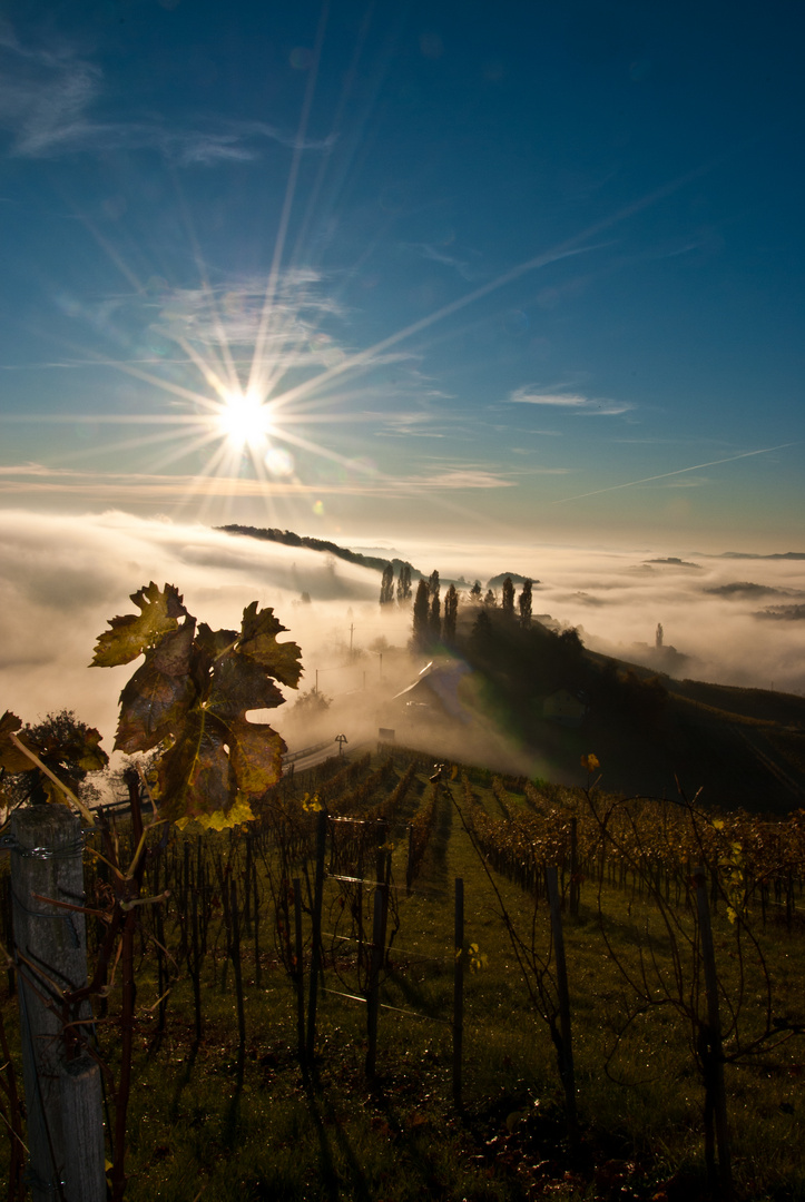
[[[81,1054],[73,1027],[88,1018],[64,1002],[87,983],[87,932],[79,820],[61,805],[11,819],[14,958],[19,976],[23,1083],[34,1202],[103,1202],[106,1176],[101,1079]],[[53,899],[53,900],[47,900]]]

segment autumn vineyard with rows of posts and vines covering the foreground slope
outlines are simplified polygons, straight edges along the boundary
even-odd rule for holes
[[[625,802],[587,769],[537,787],[383,745],[243,827],[155,828],[126,1198],[803,1196],[804,815]],[[95,834],[84,870],[93,963]],[[93,1018],[114,1073],[116,988]]]

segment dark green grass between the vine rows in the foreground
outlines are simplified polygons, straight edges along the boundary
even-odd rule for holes
[[[377,760],[372,767],[378,767]],[[398,821],[409,819],[426,798],[426,776],[419,774],[422,787],[409,792],[392,823],[397,883],[391,912],[398,929],[381,986],[386,1008],[380,1012],[377,1081],[367,1082],[363,1073],[366,1006],[339,996],[360,994],[365,984],[353,942],[333,942],[325,981],[333,992],[320,994],[316,1059],[303,1071],[290,978],[266,944],[258,986],[251,945],[243,939],[242,1083],[232,974],[225,971],[220,948],[202,970],[205,1030],[197,1049],[187,976],[173,986],[161,1041],[154,1039],[148,1007],[158,990],[146,956],[138,976],[142,1020],[130,1106],[131,1202],[413,1202],[424,1195],[445,1202],[546,1196],[693,1202],[708,1196],[703,1090],[689,1029],[673,1007],[657,1006],[635,1020],[612,1055],[628,987],[602,941],[591,882],[582,886],[579,918],[564,923],[582,1126],[581,1154],[572,1161],[547,1028],[523,987],[498,897],[446,795],[439,799],[414,891],[406,894],[406,840]],[[304,791],[304,781],[297,787]],[[473,787],[487,811],[498,815],[491,776],[475,774]],[[461,790],[454,791],[461,798]],[[508,786],[507,797],[514,814],[522,796]],[[466,976],[461,1113],[451,1101],[450,1025],[457,876],[464,881],[467,942],[477,944],[485,958],[480,971]],[[495,883],[517,930],[533,930],[537,947],[546,950],[546,904],[540,902],[534,914],[520,888],[497,875]],[[328,918],[342,911],[339,899],[351,905],[349,889],[328,882],[325,932],[332,930]],[[371,904],[367,888],[367,930]],[[652,950],[658,970],[667,974],[668,946],[657,914],[629,889],[604,888],[602,905],[615,956],[635,972],[639,950]],[[176,948],[173,920],[168,942]],[[267,939],[267,910],[262,921]],[[724,987],[735,996],[740,964],[730,959],[734,930],[722,915],[716,916],[715,935]],[[801,929],[794,924],[787,933],[771,923],[759,941],[776,990],[775,1013],[801,1022]],[[748,958],[744,969],[751,1011],[760,980]],[[4,1004],[4,1012],[13,1017],[14,1007]],[[113,1061],[113,1027],[101,1030],[101,1045]],[[804,1059],[801,1040],[792,1040],[748,1066],[727,1066],[736,1185],[746,1200],[805,1198]]]

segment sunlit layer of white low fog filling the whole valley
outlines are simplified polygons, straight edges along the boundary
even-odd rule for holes
[[[650,561],[665,549],[679,548],[466,545],[444,551],[412,540],[390,547],[389,558],[407,558],[426,575],[437,569],[443,581],[457,579],[464,594],[475,578],[485,589],[501,571],[531,575],[539,581],[534,615],[580,626],[593,650],[652,664],[661,623],[665,647],[686,656],[669,655],[659,665],[671,674],[805,692],[805,623],[793,620],[803,607],[758,612],[754,589],[747,595],[732,588],[741,582],[729,559],[686,549],[685,563],[673,554]],[[327,730],[335,737],[343,728],[350,744],[377,737],[378,725],[386,725],[384,707],[422,667],[406,651],[410,613],[396,606],[380,612],[379,573],[302,547],[123,512],[73,517],[7,510],[0,512],[0,709],[31,722],[75,709],[101,730],[108,746],[131,667],[88,665],[107,620],[132,612],[129,595],[150,579],[176,584],[190,612],[213,627],[238,626],[251,601],[272,606],[289,627],[284,637],[302,648],[300,691],[318,682],[333,698]],[[691,571],[692,561],[698,571]],[[753,564],[753,577],[770,596],[801,595],[805,561],[763,560]],[[773,617],[789,620],[763,620]],[[309,724],[294,721],[296,696],[288,692],[290,703],[276,712],[276,725],[292,745],[304,745]]]

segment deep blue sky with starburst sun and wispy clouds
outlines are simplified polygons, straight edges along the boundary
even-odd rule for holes
[[[0,504],[805,549],[804,31],[6,6]]]

